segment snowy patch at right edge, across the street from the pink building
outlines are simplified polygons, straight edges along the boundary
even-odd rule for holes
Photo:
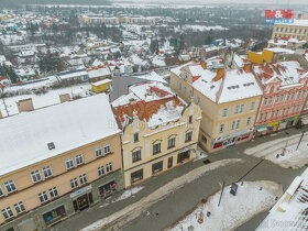
[[[266,158],[282,167],[299,168],[308,164],[308,133],[305,133],[298,150],[297,144],[301,134],[268,141],[254,147],[246,148],[246,155]]]

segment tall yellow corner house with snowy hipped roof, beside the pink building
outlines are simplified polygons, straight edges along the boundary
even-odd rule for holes
[[[224,63],[224,62],[223,62]],[[172,69],[170,88],[185,101],[194,97],[202,110],[199,141],[213,152],[253,138],[262,98],[251,64],[208,69],[205,62]]]

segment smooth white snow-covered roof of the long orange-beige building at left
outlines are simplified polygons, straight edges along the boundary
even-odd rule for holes
[[[0,175],[120,132],[103,94],[2,119],[0,130]]]

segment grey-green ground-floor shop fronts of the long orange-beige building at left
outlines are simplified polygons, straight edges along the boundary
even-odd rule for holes
[[[2,231],[41,231],[80,212],[124,188],[123,172],[119,169],[91,184],[45,204],[0,227]]]

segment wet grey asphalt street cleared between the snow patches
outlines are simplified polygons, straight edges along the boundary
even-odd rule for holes
[[[216,154],[210,154],[208,160],[216,162],[224,158],[242,158],[244,163],[232,164],[220,167],[218,169],[211,170],[202,175],[196,180],[193,180],[182,187],[180,189],[174,191],[173,195],[169,195],[165,199],[157,201],[147,211],[143,212],[138,219],[127,223],[121,230],[128,231],[156,231],[164,230],[169,227],[172,223],[183,218],[187,212],[194,210],[195,206],[199,204],[202,199],[209,197],[220,189],[220,183],[223,180],[227,185],[238,182],[240,178],[243,180],[272,180],[283,185],[283,188],[286,189],[292,180],[300,175],[305,167],[299,169],[289,169],[283,168],[278,165],[275,165],[268,161],[263,161],[255,168],[253,168],[261,158],[253,156],[248,156],[243,154],[243,151],[248,147],[257,145],[260,143],[276,140],[279,138],[285,138],[299,133],[298,130],[289,130],[289,134],[285,132],[279,133],[275,136],[260,138],[255,141],[250,141],[233,147],[223,150]],[[202,161],[190,162],[180,167],[174,168],[165,174],[158,175],[151,180],[144,182],[141,186],[144,188],[136,194],[134,197],[130,197],[125,200],[118,202],[109,204],[100,208],[105,202],[100,202],[69,219],[63,221],[53,228],[53,230],[67,230],[75,231],[84,227],[87,227],[95,221],[102,219],[107,216],[112,215],[116,211],[124,208],[125,206],[133,204],[141,199],[142,197],[151,194],[160,187],[163,187],[169,180],[175,177],[179,177],[189,170],[202,166]],[[253,168],[253,169],[252,169]],[[248,172],[252,169],[249,174]],[[248,174],[248,175],[246,175]],[[222,201],[223,202],[223,201]],[[237,230],[254,230],[258,223],[266,217],[267,212],[255,216],[253,219],[239,227]]]

